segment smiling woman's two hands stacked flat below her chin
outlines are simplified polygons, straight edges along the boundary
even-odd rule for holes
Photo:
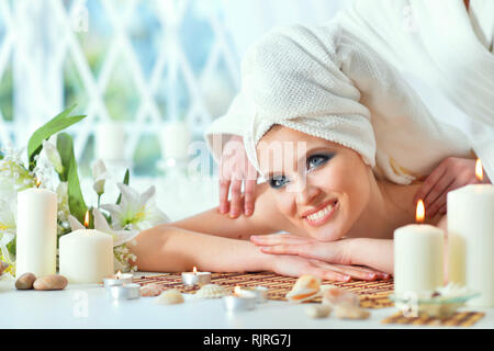
[[[278,274],[300,276],[313,274],[326,280],[350,279],[373,281],[389,279],[390,274],[373,269],[351,265],[352,239],[317,241],[290,234],[251,236],[250,240],[263,253],[273,254],[273,268]]]

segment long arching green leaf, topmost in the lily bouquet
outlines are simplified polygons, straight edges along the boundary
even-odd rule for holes
[[[72,105],[61,113],[57,114],[50,121],[48,121],[45,125],[41,126],[36,129],[31,136],[27,143],[27,157],[30,160],[30,170],[33,170],[35,167],[34,157],[38,155],[43,148],[43,140],[47,140],[52,135],[64,131],[65,128],[71,126],[72,124],[78,123],[86,115],[78,116],[68,116],[69,113],[76,107]]]

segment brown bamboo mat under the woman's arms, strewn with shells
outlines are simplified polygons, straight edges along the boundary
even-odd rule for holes
[[[199,287],[184,286],[180,273],[164,273],[151,276],[134,276],[141,285],[157,283],[166,288],[177,288],[182,293],[194,294]],[[212,273],[211,283],[222,285],[233,292],[235,286],[265,286],[269,288],[268,298],[285,301],[284,296],[295,284],[295,278],[281,276],[274,273]],[[393,293],[393,280],[386,281],[350,281],[347,283],[324,281],[323,285],[335,285],[353,292],[360,296],[360,305],[364,308],[384,308],[394,306],[388,295]],[[321,302],[321,297],[313,299]]]

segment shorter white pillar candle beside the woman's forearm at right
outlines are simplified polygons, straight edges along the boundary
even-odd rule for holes
[[[411,224],[394,230],[394,292],[433,291],[444,284],[444,230]]]

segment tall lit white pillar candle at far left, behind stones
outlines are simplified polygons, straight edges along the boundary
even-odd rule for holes
[[[46,189],[18,193],[15,276],[56,273],[57,195]]]

